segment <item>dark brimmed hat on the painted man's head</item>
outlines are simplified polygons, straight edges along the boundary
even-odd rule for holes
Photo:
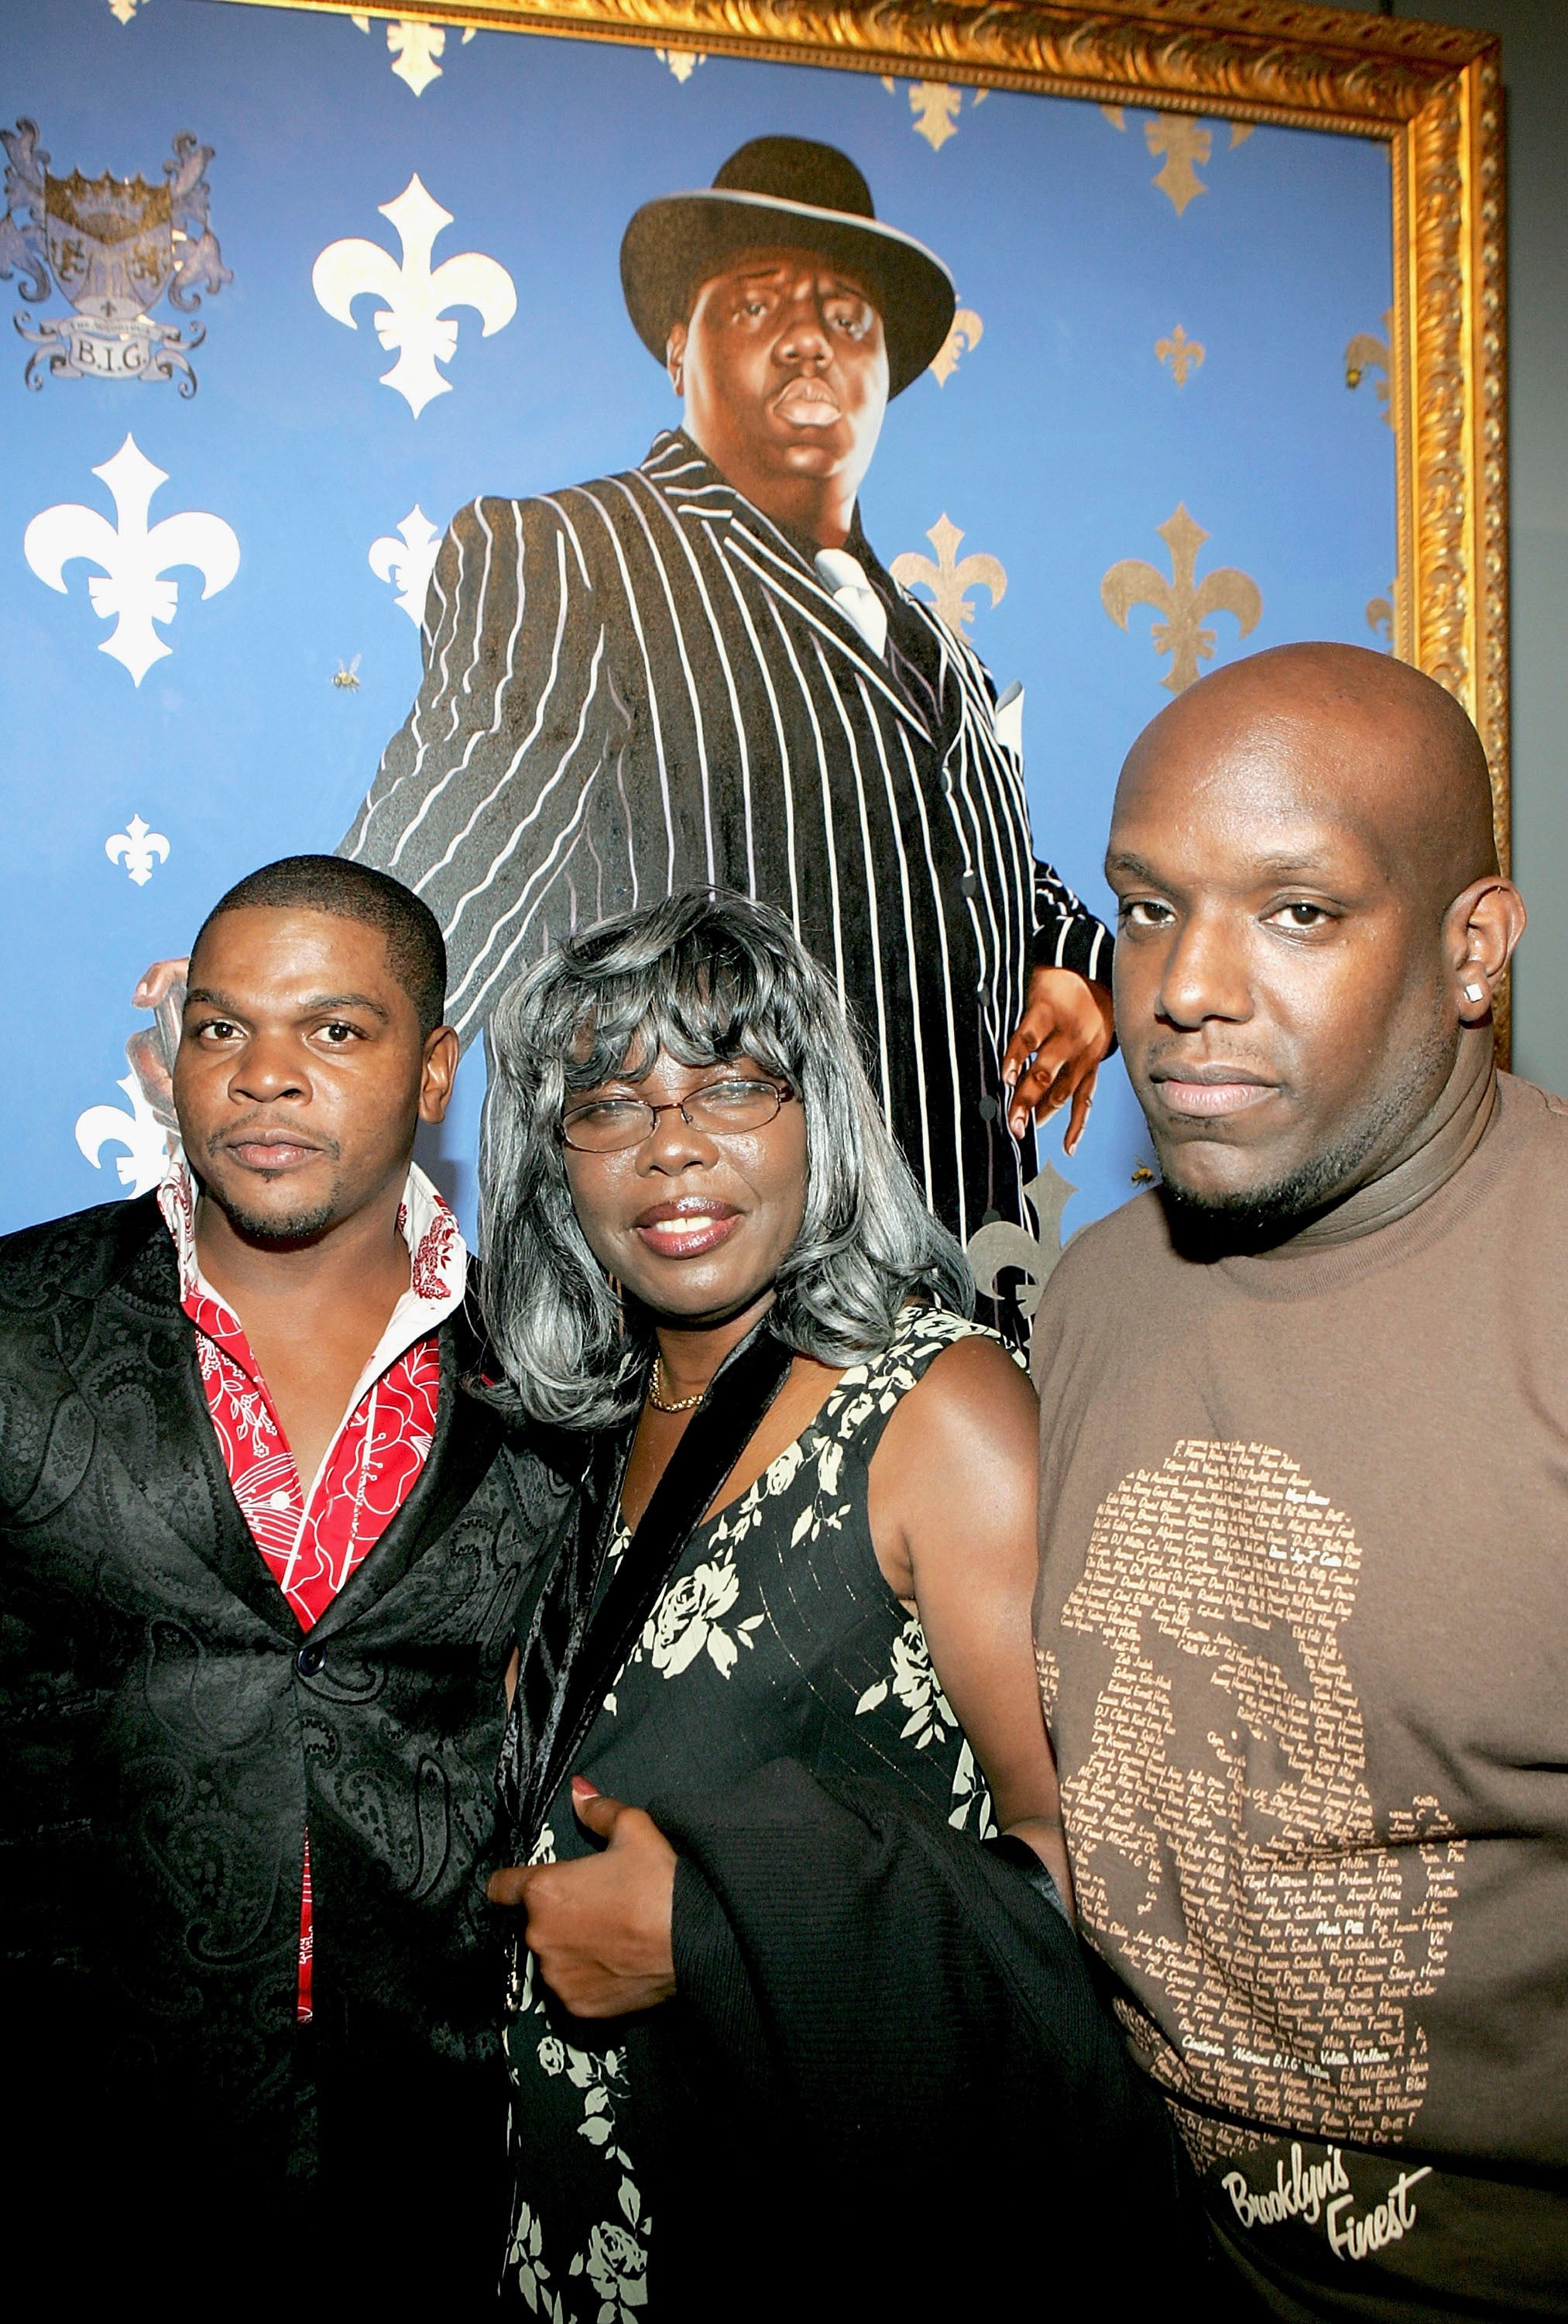
[[[920,379],[952,328],[952,277],[925,242],[883,225],[848,153],[808,137],[753,137],[711,186],[643,202],[625,230],[620,286],[648,353],[664,363],[692,293],[760,244],[822,251],[864,281],[883,318],[890,395]]]

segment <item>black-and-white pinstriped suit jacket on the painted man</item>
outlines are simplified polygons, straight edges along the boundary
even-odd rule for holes
[[[966,1239],[1020,1218],[999,1060],[1029,960],[1092,976],[1108,937],[1034,862],[1022,767],[973,651],[925,625],[934,700],[690,437],[453,521],[425,681],[341,853],[407,881],[479,1030],[574,927],[692,881],[778,904],[832,969],[887,1120]]]

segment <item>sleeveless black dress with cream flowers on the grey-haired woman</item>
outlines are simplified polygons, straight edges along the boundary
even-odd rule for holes
[[[846,1371],[767,1473],[697,1527],[581,1752],[602,1792],[641,1806],[787,1757],[906,1783],[950,1824],[994,1831],[985,1778],[866,1518],[887,1415],[971,1336],[994,1339],[943,1308],[906,1308],[892,1346]],[[588,1852],[562,1785],[534,1862]],[[627,2136],[627,2052],[576,2047],[523,1959],[506,2033],[516,2201],[504,2291],[513,2312],[546,2324],[643,2324],[657,2243]]]

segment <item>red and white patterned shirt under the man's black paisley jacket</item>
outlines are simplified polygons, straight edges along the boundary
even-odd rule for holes
[[[413,1492],[437,1422],[437,1327],[462,1301],[467,1250],[458,1220],[420,1169],[409,1171],[397,1232],[409,1290],[360,1373],[321,1469],[304,1485],[251,1355],[244,1325],[195,1257],[195,1183],[177,1157],[158,1190],[179,1253],[181,1306],[195,1325],[207,1411],[235,1499],[267,1569],[309,1629]],[[311,2017],[311,1852],[300,1899],[300,2022]]]

